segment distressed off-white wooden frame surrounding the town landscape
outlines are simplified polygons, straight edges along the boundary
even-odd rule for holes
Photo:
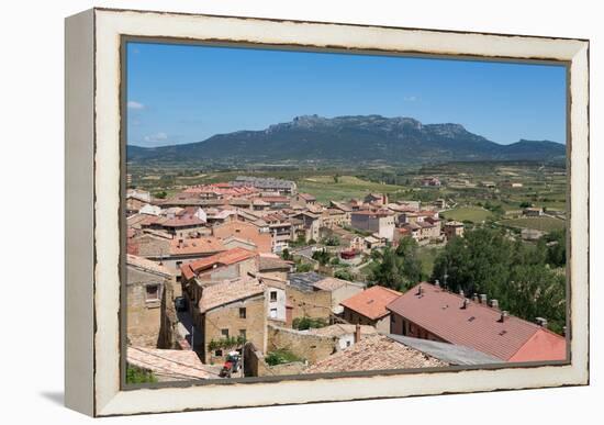
[[[122,40],[568,64],[570,361],[123,389]],[[92,9],[66,20],[66,405],[91,416],[589,383],[589,41]]]

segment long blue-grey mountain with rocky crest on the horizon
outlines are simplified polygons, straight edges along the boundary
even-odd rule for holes
[[[161,146],[127,146],[131,163],[224,161],[282,163],[382,161],[385,164],[456,160],[561,160],[566,146],[549,141],[501,145],[460,124],[422,124],[411,118],[381,115],[297,116],[261,131],[217,134],[205,141]]]

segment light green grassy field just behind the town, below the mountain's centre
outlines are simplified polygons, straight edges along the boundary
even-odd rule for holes
[[[298,190],[313,194],[318,202],[345,201],[363,198],[369,192],[393,193],[404,190],[402,186],[381,184],[353,176],[340,176],[336,183],[333,176],[313,176],[298,182]]]

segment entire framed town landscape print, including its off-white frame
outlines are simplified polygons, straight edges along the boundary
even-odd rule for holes
[[[66,20],[66,404],[589,383],[589,42]]]

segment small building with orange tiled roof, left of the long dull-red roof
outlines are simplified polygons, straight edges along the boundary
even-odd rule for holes
[[[402,293],[376,286],[340,301],[342,317],[351,324],[369,325],[381,333],[390,333],[390,311],[385,307]]]

